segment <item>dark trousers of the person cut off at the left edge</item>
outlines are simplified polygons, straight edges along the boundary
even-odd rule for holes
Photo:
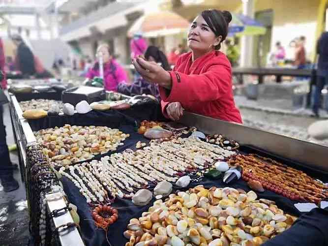
[[[12,175],[13,168],[10,162],[6,131],[3,124],[3,107],[0,105],[0,177]]]

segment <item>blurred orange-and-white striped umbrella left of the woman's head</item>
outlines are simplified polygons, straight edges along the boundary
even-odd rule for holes
[[[141,16],[127,32],[129,37],[142,32],[145,37],[177,34],[189,28],[189,22],[170,11],[160,11]]]

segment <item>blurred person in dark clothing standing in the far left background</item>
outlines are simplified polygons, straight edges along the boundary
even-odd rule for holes
[[[24,43],[23,39],[19,35],[13,35],[12,41],[17,46],[16,52],[16,66],[20,70],[23,76],[32,76],[36,73],[34,56],[30,48]]]

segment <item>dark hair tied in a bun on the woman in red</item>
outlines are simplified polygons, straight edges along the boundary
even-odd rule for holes
[[[221,11],[217,9],[204,10],[201,13],[206,23],[209,25],[211,31],[215,36],[222,36],[221,42],[214,47],[215,50],[221,48],[221,43],[226,39],[228,35],[229,23],[232,20],[232,15],[229,11]]]

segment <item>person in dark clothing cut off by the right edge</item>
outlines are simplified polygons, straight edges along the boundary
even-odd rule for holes
[[[317,85],[314,94],[313,113],[319,117],[319,107],[321,91],[326,84],[328,84],[328,31],[324,32],[317,46],[317,53],[319,55],[318,69],[317,69]]]

